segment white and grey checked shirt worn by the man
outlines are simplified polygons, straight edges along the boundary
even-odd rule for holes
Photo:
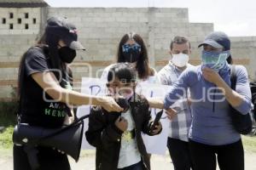
[[[189,67],[193,67],[193,65],[188,65],[188,68]],[[174,82],[177,82],[181,73],[182,71],[179,70],[177,66],[172,65],[170,61],[168,65],[158,72],[158,77],[162,84],[172,86]],[[188,95],[187,92],[186,96],[188,97]],[[171,107],[177,111],[177,116],[170,122],[169,138],[180,139],[187,142],[189,141],[189,127],[192,122],[192,115],[187,98],[177,100]]]

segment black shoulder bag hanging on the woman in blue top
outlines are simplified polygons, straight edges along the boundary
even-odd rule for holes
[[[230,69],[231,88],[236,91],[236,65],[231,65]],[[251,133],[253,123],[249,112],[246,115],[242,115],[239,111],[233,108],[232,105],[230,105],[230,116],[233,127],[235,127],[238,133]]]

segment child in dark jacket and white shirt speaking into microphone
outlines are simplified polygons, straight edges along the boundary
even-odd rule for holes
[[[148,153],[141,132],[159,134],[160,122],[152,128],[148,101],[135,94],[136,71],[127,63],[118,63],[108,72],[108,91],[113,97],[121,95],[129,108],[107,112],[102,108],[90,111],[87,141],[96,147],[96,170],[150,170]],[[153,130],[152,130],[153,129]]]

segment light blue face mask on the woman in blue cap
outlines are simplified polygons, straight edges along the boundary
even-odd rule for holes
[[[212,52],[202,50],[201,60],[202,66],[213,69],[214,71],[220,71],[224,65],[226,65],[226,59],[230,56],[230,51]]]

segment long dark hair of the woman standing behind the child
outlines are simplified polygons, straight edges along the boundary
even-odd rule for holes
[[[129,34],[131,36],[129,36]],[[119,47],[118,47],[118,54],[117,54],[117,62],[126,62],[125,61],[125,56],[123,54],[122,51],[122,46],[125,44],[125,42],[127,42],[129,39],[134,40],[135,42],[137,42],[141,47],[142,47],[142,52],[140,54],[140,57],[137,60],[137,65],[136,65],[136,71],[138,73],[138,77],[140,79],[145,79],[148,76],[153,76],[154,75],[154,71],[153,69],[150,68],[149,63],[148,63],[148,52],[147,52],[147,48],[145,46],[145,43],[143,41],[143,38],[140,37],[138,34],[136,33],[129,33],[129,34],[125,34],[125,36],[123,36],[119,42]]]

